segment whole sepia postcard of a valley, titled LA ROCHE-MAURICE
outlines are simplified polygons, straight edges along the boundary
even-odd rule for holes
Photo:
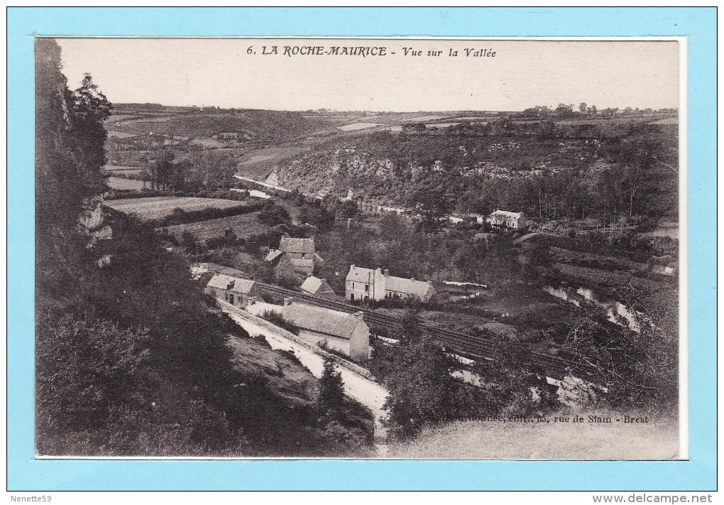
[[[36,457],[687,459],[685,44],[35,37]]]

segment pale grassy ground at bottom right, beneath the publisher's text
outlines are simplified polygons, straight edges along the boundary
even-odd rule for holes
[[[673,420],[623,423],[623,414],[582,412],[586,422],[455,422],[424,430],[417,438],[389,446],[400,459],[674,459],[678,427]],[[563,414],[573,416],[573,414]],[[589,415],[612,417],[610,424],[587,422]],[[632,417],[636,414],[629,413]],[[638,414],[641,417],[644,414]],[[617,422],[616,419],[620,419]]]

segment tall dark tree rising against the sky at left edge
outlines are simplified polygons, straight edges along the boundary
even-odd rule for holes
[[[50,242],[67,240],[88,199],[105,189],[103,121],[111,105],[90,75],[75,92],[68,89],[53,39],[36,39],[35,61],[35,216],[42,262],[64,249]]]

